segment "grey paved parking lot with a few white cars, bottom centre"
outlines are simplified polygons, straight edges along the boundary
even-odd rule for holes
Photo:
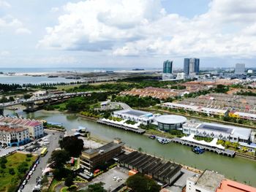
[[[114,180],[114,177],[118,177],[121,180]],[[115,167],[110,169],[108,172],[99,175],[99,177],[96,177],[94,180],[88,183],[88,185],[102,182],[105,183],[103,185],[105,190],[113,191],[114,189],[118,188],[118,186],[124,184],[128,177],[128,169],[124,169],[123,167]]]

